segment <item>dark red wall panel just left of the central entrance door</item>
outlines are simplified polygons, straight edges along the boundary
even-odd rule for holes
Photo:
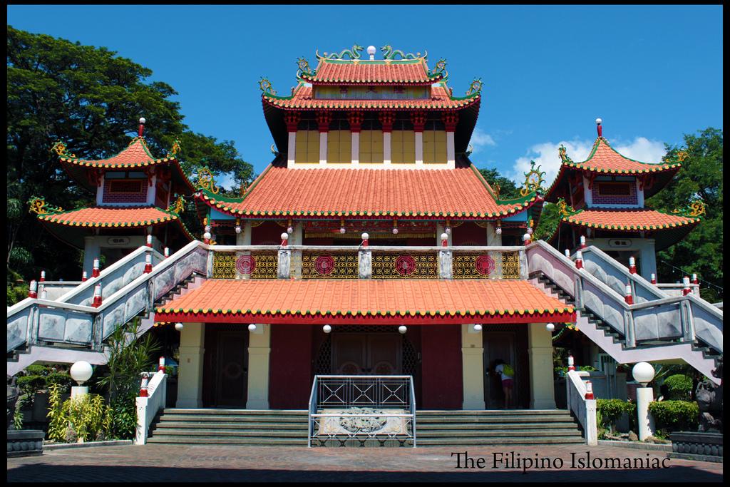
[[[269,407],[307,409],[312,388],[312,327],[271,327]]]

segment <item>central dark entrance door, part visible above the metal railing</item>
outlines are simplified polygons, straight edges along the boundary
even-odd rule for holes
[[[332,373],[399,375],[402,339],[398,333],[332,334]]]

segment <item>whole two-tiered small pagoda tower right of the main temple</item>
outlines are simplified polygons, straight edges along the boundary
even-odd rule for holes
[[[672,213],[645,207],[645,199],[672,180],[681,160],[648,164],[622,156],[602,137],[601,121],[596,120],[598,137],[585,161],[574,162],[565,147],[559,149],[560,172],[545,196],[561,212],[550,242],[558,249],[595,245],[626,266],[633,259],[640,275],[656,280],[656,251],[683,239],[704,206],[696,202]]]

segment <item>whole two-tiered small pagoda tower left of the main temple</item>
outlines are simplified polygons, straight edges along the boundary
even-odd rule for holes
[[[177,161],[180,147],[175,142],[164,158],[156,158],[145,142],[144,124],[140,118],[138,136],[110,158],[88,160],[70,153],[63,142],[53,146],[69,176],[96,193],[92,207],[63,210],[44,198],[31,200],[31,211],[51,234],[84,250],[88,277],[99,271],[93,266],[101,256],[111,264],[142,245],[163,252],[193,239],[180,220],[182,198],[195,189]]]

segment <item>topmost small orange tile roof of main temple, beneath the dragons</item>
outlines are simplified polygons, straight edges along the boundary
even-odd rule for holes
[[[429,84],[441,80],[442,74],[429,76],[423,58],[408,61],[330,60],[320,58],[313,75],[301,78],[312,83],[403,83]]]

